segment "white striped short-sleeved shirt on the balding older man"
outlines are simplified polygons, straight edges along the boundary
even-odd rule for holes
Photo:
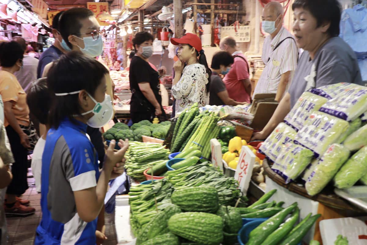
[[[296,69],[298,48],[295,41],[290,38],[286,39],[287,37],[293,36],[286,28],[282,27],[273,39],[271,39],[270,35],[265,38],[261,56],[262,61],[265,63],[265,68],[255,87],[254,96],[262,93],[276,93],[280,76]],[[274,50],[282,40],[284,42]],[[289,80],[291,80],[291,77]]]

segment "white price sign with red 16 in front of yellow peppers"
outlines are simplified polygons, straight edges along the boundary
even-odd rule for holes
[[[244,195],[247,193],[248,185],[250,185],[252,169],[255,164],[255,154],[246,145],[241,148],[240,158],[237,164],[235,179],[240,185],[240,189]]]

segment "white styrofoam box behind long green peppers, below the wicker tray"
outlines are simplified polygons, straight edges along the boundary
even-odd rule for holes
[[[312,215],[317,214],[319,202],[312,201],[311,199],[302,197],[301,195],[298,195],[294,192],[287,190],[286,188],[281,187],[280,185],[275,183],[272,179],[270,179],[268,176],[266,176],[265,183],[266,183],[265,193],[273,189],[277,190],[275,194],[269,199],[270,202],[273,200],[275,200],[276,202],[283,201],[284,202],[283,207],[287,207],[292,203],[297,202],[298,208],[300,209],[299,212],[300,219],[304,219],[309,213],[312,213]],[[310,241],[313,240],[314,234],[315,234],[315,225],[313,225],[310,231],[306,234],[303,241],[309,244]]]

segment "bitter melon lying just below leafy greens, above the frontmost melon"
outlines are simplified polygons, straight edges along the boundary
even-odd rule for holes
[[[214,213],[219,208],[218,191],[211,186],[175,190],[171,195],[171,201],[186,212]]]

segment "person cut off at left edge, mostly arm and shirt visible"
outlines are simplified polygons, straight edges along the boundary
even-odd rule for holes
[[[0,95],[0,203],[4,203],[6,188],[12,179],[11,164],[14,157],[11,152],[8,136],[4,127],[4,104]],[[0,206],[0,244],[7,242],[7,223],[4,206]]]

